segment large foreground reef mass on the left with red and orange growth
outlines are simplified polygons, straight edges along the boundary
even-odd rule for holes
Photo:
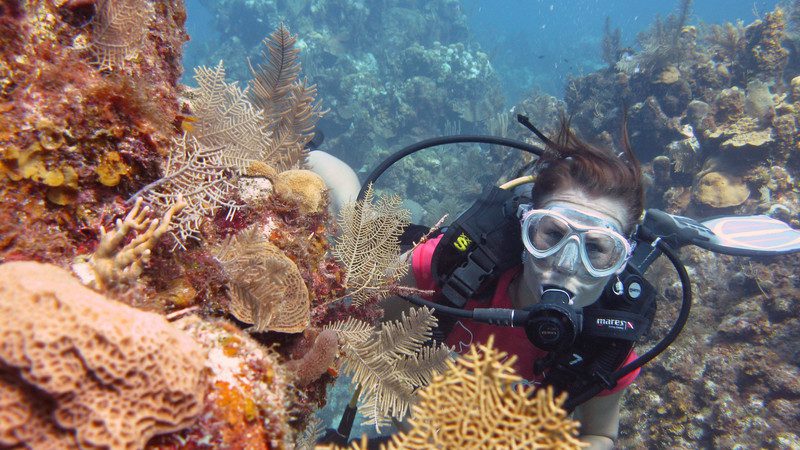
[[[323,111],[299,64],[254,69],[262,84],[278,73],[275,95],[239,89],[221,63],[185,88],[185,18],[183,2],[150,0],[0,7],[0,271],[19,260],[54,264],[35,280],[0,283],[3,446],[293,448],[333,380],[335,361],[322,372],[309,361],[338,354],[336,340],[306,345],[302,332],[379,314],[331,304],[343,294],[343,269],[328,254],[324,186],[240,195],[244,181],[271,192],[267,178],[303,163]],[[294,38],[285,28],[274,36],[281,44],[266,46],[287,62]],[[276,102],[268,116],[265,93]],[[277,170],[251,173],[260,166]],[[242,248],[215,257],[250,228],[279,267],[236,270],[233,261],[258,259]],[[178,239],[163,238],[170,232]],[[98,292],[71,278],[68,286],[56,266]],[[261,280],[274,283],[259,290]],[[20,283],[42,293],[9,296],[28,292]],[[277,304],[268,320],[262,308],[250,321],[254,337],[239,329],[247,324],[220,321],[241,306],[239,294],[264,289]],[[103,295],[151,312],[112,308]],[[30,302],[41,307],[19,309]],[[197,316],[181,324],[200,347],[164,319],[190,312]],[[167,434],[151,440],[158,433]]]

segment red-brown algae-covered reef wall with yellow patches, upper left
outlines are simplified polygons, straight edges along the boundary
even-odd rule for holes
[[[179,109],[179,52],[186,40],[182,4],[158,8],[142,57],[131,67],[134,77],[103,76],[72,45],[87,29],[67,16],[87,6],[13,1],[0,7],[5,259],[67,266],[91,251],[103,214],[116,212],[121,194],[157,176],[177,135],[171,122]],[[103,186],[98,167],[107,155],[115,155],[121,176]]]

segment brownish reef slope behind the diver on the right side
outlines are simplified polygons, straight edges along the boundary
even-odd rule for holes
[[[633,49],[607,25],[608,67],[567,83],[573,126],[615,145],[627,106],[648,207],[695,218],[768,214],[799,228],[800,4],[724,25],[695,25],[691,2],[679,6]],[[792,281],[798,257],[682,253],[693,280],[692,316],[627,394],[620,445],[800,445],[800,356],[787,347],[800,326],[800,289]],[[643,349],[664,335],[680,301],[671,268],[652,273],[660,280],[659,320]]]

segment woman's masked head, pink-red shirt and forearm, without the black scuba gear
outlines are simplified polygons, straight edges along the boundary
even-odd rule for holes
[[[530,310],[543,300],[556,298],[565,301],[565,308],[582,310],[597,302],[631,256],[632,234],[644,212],[641,170],[624,134],[622,149],[618,157],[593,147],[578,139],[568,121],[562,120],[558,136],[548,143],[536,164],[530,197],[521,199],[517,207],[519,222],[515,226],[521,236],[507,235],[521,240],[522,260],[500,274],[489,289],[489,299],[470,298],[463,308]],[[442,237],[426,241],[411,255],[412,285],[419,289],[441,290],[431,266],[434,257],[440,256],[436,249],[444,245]],[[387,308],[396,304],[395,300]],[[520,376],[536,384],[544,381],[542,364],[548,351],[534,345],[525,329],[502,329],[468,319],[450,328],[445,342],[457,352],[484,344],[494,334],[498,349],[518,356],[515,369]],[[635,359],[629,348],[619,363]],[[612,389],[576,409],[580,439],[590,443],[590,448],[612,447],[618,432],[619,399],[638,373],[638,369],[629,373]]]

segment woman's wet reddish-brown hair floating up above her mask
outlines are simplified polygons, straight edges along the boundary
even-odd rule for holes
[[[644,209],[644,188],[639,161],[628,140],[627,120],[622,120],[622,154],[595,147],[570,129],[570,121],[561,118],[558,135],[539,159],[539,171],[533,186],[534,207],[552,194],[576,188],[590,198],[609,197],[620,200],[627,209],[626,232],[639,221]]]

